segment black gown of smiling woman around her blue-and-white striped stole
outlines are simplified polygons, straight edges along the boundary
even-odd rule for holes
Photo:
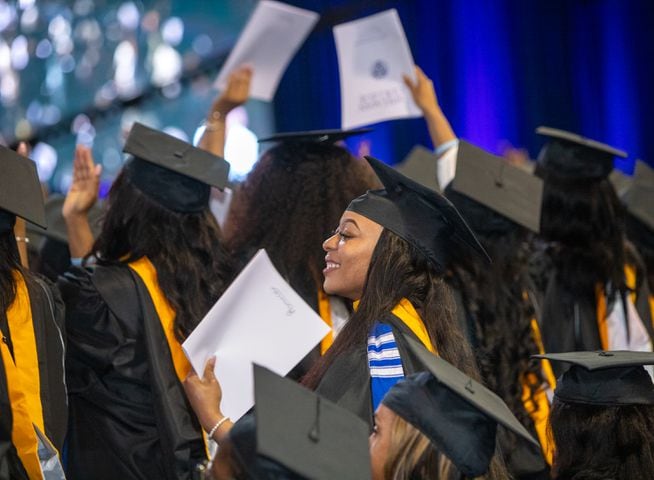
[[[381,321],[390,325],[393,330],[404,374],[411,375],[420,371],[421,363],[409,349],[402,333],[418,342],[420,339],[400,318],[392,313],[387,313]],[[341,354],[323,375],[316,388],[316,393],[359,415],[368,422],[372,431],[374,412],[372,410],[367,342]]]

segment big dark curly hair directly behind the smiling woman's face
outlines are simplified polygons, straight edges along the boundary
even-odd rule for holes
[[[241,259],[265,248],[296,290],[315,296],[322,285],[322,242],[350,201],[376,182],[367,163],[341,146],[280,143],[236,192],[225,226],[228,247]]]

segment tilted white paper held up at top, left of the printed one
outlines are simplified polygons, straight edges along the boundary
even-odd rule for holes
[[[310,10],[262,0],[225,61],[214,86],[224,89],[232,70],[248,64],[254,71],[250,97],[271,101],[286,67],[318,18],[319,15]]]

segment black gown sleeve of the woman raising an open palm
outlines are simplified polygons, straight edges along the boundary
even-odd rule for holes
[[[135,289],[129,274],[109,274],[122,313],[131,315],[109,308],[89,270],[74,267],[59,280],[68,340],[67,477],[167,478]]]

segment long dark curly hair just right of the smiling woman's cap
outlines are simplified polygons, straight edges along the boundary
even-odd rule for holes
[[[454,191],[447,196],[493,259],[488,265],[479,257],[459,255],[448,275],[474,322],[472,343],[481,376],[520,422],[533,430],[522,398],[523,382],[528,382],[532,404],[537,407],[534,396],[546,380],[540,364],[530,360],[540,353],[532,331],[536,312],[528,296],[530,233],[468,197]]]

